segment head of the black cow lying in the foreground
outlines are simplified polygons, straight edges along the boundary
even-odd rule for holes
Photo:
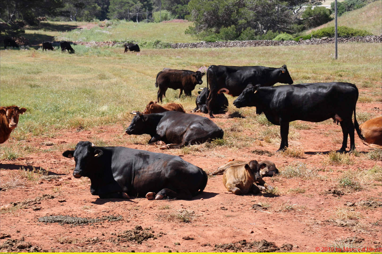
[[[94,169],[100,163],[98,158],[104,153],[101,149],[102,147],[95,147],[92,142],[80,141],[74,151],[66,150],[62,155],[67,158],[74,157],[76,162],[76,168],[73,171],[74,177],[90,177],[94,174]]]

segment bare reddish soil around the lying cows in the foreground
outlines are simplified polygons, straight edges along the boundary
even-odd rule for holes
[[[362,111],[374,114],[380,112],[371,109],[380,106],[380,103],[357,105]],[[220,123],[225,123],[228,119],[227,115],[216,117],[213,121]],[[295,141],[298,147],[304,149],[303,159],[285,158],[278,153],[272,156],[251,153],[254,149],[273,153],[278,149],[278,143],[263,147],[253,144],[238,150],[222,148],[214,154],[197,152],[182,158],[210,172],[230,159],[271,160],[279,169],[293,161],[324,168],[322,161],[325,154],[330,150],[338,150],[341,146],[333,144],[332,138],[324,133],[340,129],[340,126],[304,123],[311,125],[312,129],[298,130],[301,137]],[[49,149],[54,145],[46,146],[48,143],[42,142],[56,145],[63,142],[76,143],[86,141],[92,136],[108,141],[113,140],[116,134],[123,133],[124,129],[120,125],[108,125],[90,130],[63,130],[54,138],[31,138],[25,142],[33,147]],[[251,133],[243,135],[250,136]],[[126,135],[126,141],[129,138]],[[181,155],[180,149],[162,151],[159,146],[154,145],[124,146]],[[49,177],[28,181],[23,187],[0,191],[1,206],[10,204],[24,207],[1,213],[0,238],[3,239],[0,239],[0,244],[5,245],[0,251],[316,252],[316,248],[322,251],[322,248],[332,246],[331,241],[337,238],[346,241],[348,237],[357,237],[357,246],[374,248],[380,246],[382,239],[380,206],[354,206],[361,219],[351,219],[353,222],[348,224],[345,221],[345,226],[336,222],[338,218],[335,211],[338,207],[346,207],[344,204],[347,202],[381,201],[382,187],[378,182],[372,182],[357,192],[338,188],[338,182],[330,180],[336,179],[347,169],[360,168],[366,171],[376,163],[381,164],[380,161],[367,158],[367,152],[371,149],[362,144],[358,137],[356,149],[361,156],[356,157],[354,165],[330,166],[326,167],[327,171],[319,172],[321,176],[327,176],[327,179],[266,177],[265,182],[278,188],[276,195],[227,194],[222,183],[223,176],[214,176],[208,179],[204,192],[193,200],[148,201],[146,198],[123,200],[92,196],[89,180],[72,176],[74,160],[63,157],[61,150],[33,153],[25,158],[2,161],[2,179],[16,174],[21,167],[32,166],[49,169]],[[297,187],[305,189],[305,193],[288,192]],[[333,194],[334,189],[341,189],[343,195]],[[268,203],[270,207],[258,209],[258,206],[254,206],[255,209],[252,209],[254,204],[259,203]],[[287,205],[295,205],[295,209],[281,209]],[[48,217],[40,219],[44,216]],[[113,220],[120,216],[123,219]],[[178,218],[186,218],[189,222],[181,222]]]

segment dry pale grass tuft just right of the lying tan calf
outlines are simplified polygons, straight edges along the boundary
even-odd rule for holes
[[[298,177],[301,179],[322,179],[324,177],[318,174],[318,169],[308,168],[306,163],[293,161],[288,166],[280,168],[280,177],[293,178]]]

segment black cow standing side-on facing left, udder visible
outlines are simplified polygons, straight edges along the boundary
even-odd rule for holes
[[[288,147],[289,122],[302,120],[320,122],[333,118],[340,122],[343,141],[339,152],[345,152],[350,136],[350,149],[354,149],[354,126],[359,138],[364,139],[356,118],[358,89],[354,84],[309,83],[260,87],[249,84],[233,102],[237,108],[259,107],[274,125],[280,125],[280,149]],[[354,125],[351,120],[354,111]]]

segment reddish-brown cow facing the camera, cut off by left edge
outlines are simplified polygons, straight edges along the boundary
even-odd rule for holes
[[[0,144],[3,144],[10,136],[13,129],[19,123],[19,114],[25,113],[26,108],[18,106],[0,107]]]

